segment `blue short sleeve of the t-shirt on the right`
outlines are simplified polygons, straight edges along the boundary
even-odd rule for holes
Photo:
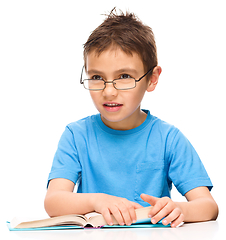
[[[197,187],[212,189],[212,182],[197,152],[179,130],[172,140],[168,156],[168,177],[182,195]]]

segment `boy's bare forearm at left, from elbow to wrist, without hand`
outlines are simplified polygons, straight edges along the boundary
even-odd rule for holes
[[[93,199],[96,193],[73,193],[56,191],[47,194],[45,209],[51,217],[67,214],[86,214],[93,212]]]

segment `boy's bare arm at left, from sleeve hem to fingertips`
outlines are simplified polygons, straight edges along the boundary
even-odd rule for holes
[[[86,214],[99,212],[109,225],[113,224],[113,214],[120,225],[131,225],[136,221],[135,209],[142,207],[125,198],[103,193],[73,193],[74,183],[62,178],[49,183],[45,198],[45,209],[49,216]]]

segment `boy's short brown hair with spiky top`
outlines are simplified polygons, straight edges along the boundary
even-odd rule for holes
[[[84,44],[84,62],[91,51],[100,55],[109,47],[121,47],[132,55],[140,55],[146,71],[158,65],[154,34],[149,26],[144,25],[133,13],[120,11],[115,8],[104,22],[98,26]]]

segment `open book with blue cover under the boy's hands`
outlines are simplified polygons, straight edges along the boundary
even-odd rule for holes
[[[98,213],[88,213],[86,215],[65,215],[60,217],[52,217],[43,220],[36,220],[30,222],[19,222],[13,219],[11,223],[8,222],[8,228],[11,231],[25,231],[25,230],[51,230],[51,229],[69,229],[69,228],[101,228],[101,227],[150,227],[151,221],[148,213],[152,207],[145,207],[136,209],[137,222],[131,226],[120,226],[116,219],[112,216],[113,226],[107,225],[104,217]],[[143,224],[148,226],[144,226]],[[156,225],[157,226],[157,225]],[[162,227],[164,225],[161,224]]]

